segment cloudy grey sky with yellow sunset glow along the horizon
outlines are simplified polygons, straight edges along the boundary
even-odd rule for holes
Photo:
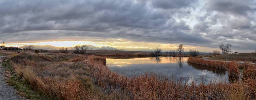
[[[255,10],[255,0],[0,0],[0,42],[253,52]]]

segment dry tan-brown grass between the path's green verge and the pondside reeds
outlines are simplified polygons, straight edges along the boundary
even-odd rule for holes
[[[79,57],[79,55],[77,55]],[[58,59],[55,59],[58,57]],[[72,60],[73,59],[73,60]],[[20,54],[11,58],[15,73],[32,89],[59,100],[96,99],[89,68],[73,54]],[[70,60],[70,61],[65,61]],[[63,62],[65,61],[65,62]],[[73,62],[71,62],[73,61]]]

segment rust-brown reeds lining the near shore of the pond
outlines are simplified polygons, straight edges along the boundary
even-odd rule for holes
[[[167,79],[157,74],[145,74],[129,78],[111,72],[102,65],[102,61],[95,61],[94,59],[94,56],[90,56],[88,60],[85,60],[85,63],[92,69],[92,76],[96,79],[96,83],[104,89],[122,89],[126,93],[125,98],[129,99],[255,99],[255,89],[252,89],[253,86],[247,83],[196,85],[195,82],[188,84],[182,80]],[[243,86],[241,87],[239,84]]]

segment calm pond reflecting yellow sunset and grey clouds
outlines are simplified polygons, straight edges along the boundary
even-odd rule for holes
[[[134,77],[146,72],[154,72],[169,77],[184,78],[188,82],[196,81],[207,84],[209,82],[227,82],[228,71],[208,66],[188,64],[188,57],[127,57],[106,58],[110,70],[128,77]]]

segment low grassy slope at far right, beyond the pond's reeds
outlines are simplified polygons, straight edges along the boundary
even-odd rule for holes
[[[208,57],[207,59],[256,63],[256,53],[225,54]]]

